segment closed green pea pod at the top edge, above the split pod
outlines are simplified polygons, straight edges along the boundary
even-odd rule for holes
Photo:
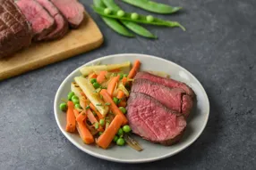
[[[149,12],[161,14],[174,13],[182,9],[182,7],[173,7],[167,4],[160,4],[149,0],[123,0],[124,3],[132,4]]]

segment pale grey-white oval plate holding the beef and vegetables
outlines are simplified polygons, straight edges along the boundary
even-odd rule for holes
[[[132,150],[132,148],[129,146],[115,146],[109,148],[108,150],[103,150],[95,145],[84,144],[78,134],[69,134],[65,132],[66,117],[65,114],[59,110],[58,106],[62,102],[61,98],[66,98],[67,93],[71,91],[70,85],[73,82],[73,77],[81,76],[79,69],[75,69],[68,77],[64,79],[64,82],[60,85],[55,95],[55,119],[64,136],[80,150],[94,157],[115,162],[151,162],[175,155],[176,153],[190,146],[192,142],[194,142],[201,135],[209,117],[209,99],[201,83],[196,79],[196,77],[193,77],[189,71],[183,69],[181,66],[158,57],[137,53],[109,55],[94,61],[90,61],[84,66],[90,66],[94,63],[98,63],[98,61],[100,61],[101,64],[111,64],[121,63],[124,61],[135,61],[137,59],[141,61],[141,70],[164,71],[171,75],[171,77],[175,80],[182,81],[191,86],[193,91],[196,93],[197,101],[195,101],[195,107],[191,113],[191,116],[189,117],[188,125],[185,133],[183,134],[181,142],[178,142],[173,146],[166,147],[147,142],[140,137],[135,136],[135,139],[140,142],[144,149],[141,152]]]

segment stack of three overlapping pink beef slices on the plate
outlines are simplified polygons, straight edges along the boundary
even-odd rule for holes
[[[164,145],[179,142],[195,94],[188,85],[171,78],[138,72],[127,102],[127,118],[134,134]]]

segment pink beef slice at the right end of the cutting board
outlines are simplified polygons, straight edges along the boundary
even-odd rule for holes
[[[72,28],[78,28],[84,19],[84,7],[77,0],[51,0],[53,4],[63,13]]]

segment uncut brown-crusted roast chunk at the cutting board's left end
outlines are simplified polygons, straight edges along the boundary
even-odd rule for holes
[[[0,58],[31,44],[30,23],[13,0],[0,0]]]

